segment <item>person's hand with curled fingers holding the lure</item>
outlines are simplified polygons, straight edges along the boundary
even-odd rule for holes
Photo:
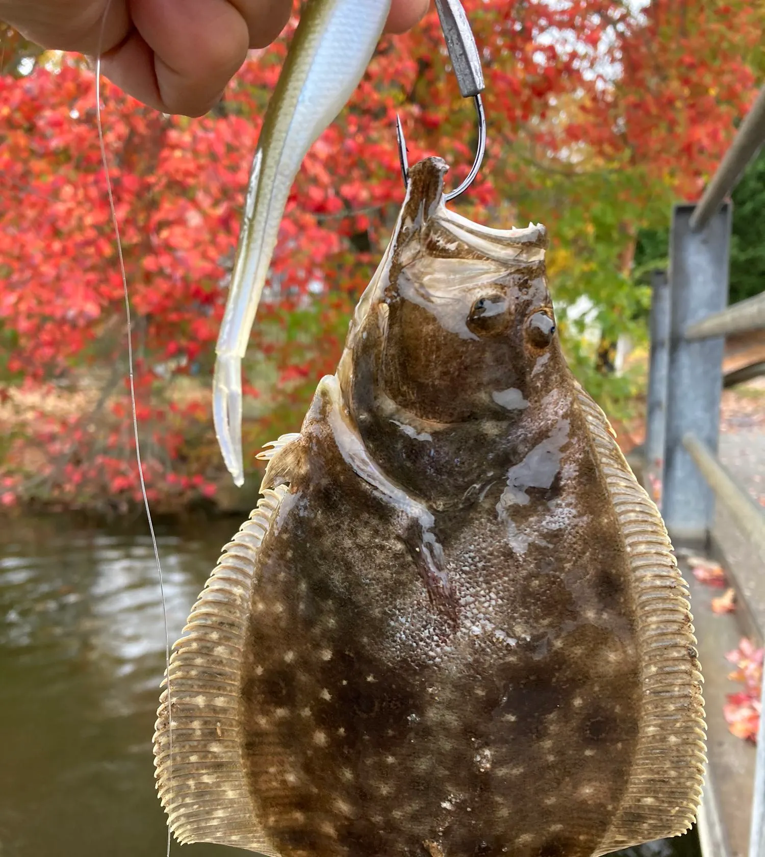
[[[428,0],[392,0],[385,29],[403,33]],[[104,10],[103,44],[99,45]],[[102,51],[104,74],[164,113],[201,116],[250,48],[270,45],[292,0],[0,0],[0,20],[45,48]]]

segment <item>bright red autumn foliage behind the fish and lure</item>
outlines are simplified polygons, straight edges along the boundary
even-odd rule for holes
[[[687,21],[672,0],[637,15],[607,0],[465,6],[483,51],[490,135],[461,210],[498,225],[541,219],[569,257],[602,258],[579,225],[602,221],[607,205],[630,221],[672,192],[696,195],[754,94],[747,57],[762,21],[752,4],[707,3]],[[160,506],[209,498],[227,479],[209,407],[214,345],[249,164],[289,35],[253,52],[224,102],[199,120],[103,89],[146,483]],[[37,57],[3,38],[0,504],[122,510],[140,492],[93,74],[76,57]],[[447,64],[434,11],[412,33],[383,39],[349,107],[308,154],[245,366],[251,461],[298,427],[315,382],[334,371],[403,198],[397,111],[410,161],[438,153],[454,183],[472,161],[472,107]],[[609,183],[602,198],[593,187],[604,184],[572,182],[580,169]],[[622,233],[631,240],[634,229],[620,222]],[[614,267],[621,252],[613,247]]]

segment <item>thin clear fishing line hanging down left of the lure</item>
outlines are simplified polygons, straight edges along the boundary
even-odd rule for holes
[[[104,125],[101,122],[101,49],[104,46],[104,33],[106,29],[106,15],[109,14],[111,0],[107,0],[104,8],[104,16],[101,19],[101,32],[99,33],[99,49],[96,54],[96,123],[99,127],[99,147],[101,149],[101,163],[104,166],[106,177],[106,191],[109,195],[109,208],[111,211],[111,223],[114,226],[114,235],[117,240],[117,257],[119,259],[120,274],[123,278],[123,295],[125,298],[125,316],[128,320],[128,378],[130,381],[130,407],[133,412],[133,436],[135,439],[135,460],[138,464],[138,476],[140,479],[140,493],[143,495],[143,505],[146,509],[146,520],[149,524],[149,532],[152,536],[152,548],[154,548],[154,560],[157,563],[159,578],[159,593],[162,597],[162,616],[164,620],[164,664],[167,669],[167,721],[168,721],[168,750],[170,752],[170,782],[173,779],[173,729],[172,729],[172,700],[170,698],[170,630],[167,621],[167,602],[164,597],[164,577],[162,574],[162,563],[159,561],[159,548],[157,536],[154,533],[152,512],[149,509],[149,498],[146,494],[146,482],[143,477],[143,463],[140,458],[140,442],[138,440],[138,414],[135,408],[135,383],[133,377],[133,326],[130,316],[130,298],[128,297],[128,275],[125,272],[125,260],[123,257],[123,242],[120,237],[120,227],[117,222],[117,209],[114,205],[114,194],[111,189],[111,176],[109,175],[109,162],[106,158],[106,144],[104,141]],[[172,806],[172,792],[169,794],[168,811]],[[170,857],[170,842],[172,835],[170,825],[167,828],[167,857]]]

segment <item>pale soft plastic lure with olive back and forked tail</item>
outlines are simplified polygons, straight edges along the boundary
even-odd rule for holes
[[[350,99],[391,0],[309,0],[260,132],[228,303],[218,335],[212,412],[226,467],[244,482],[242,358],[290,187],[308,149]]]

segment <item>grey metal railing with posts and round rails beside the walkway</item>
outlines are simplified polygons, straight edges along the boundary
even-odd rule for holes
[[[717,500],[765,553],[765,514],[716,455],[725,336],[765,328],[765,293],[727,306],[728,198],[763,143],[765,87],[701,201],[672,212],[669,278],[657,272],[653,283],[646,458],[648,472],[661,480],[661,512],[675,542],[706,541]],[[757,735],[749,857],[765,857],[765,716]]]

